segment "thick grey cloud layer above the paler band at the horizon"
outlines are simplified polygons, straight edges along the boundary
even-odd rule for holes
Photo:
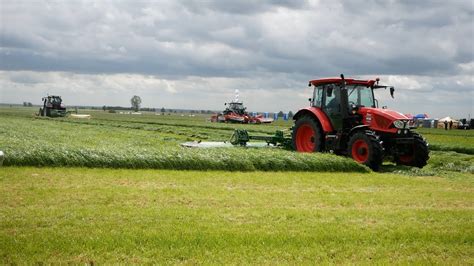
[[[469,39],[472,20],[466,20],[472,19],[472,8],[451,4],[348,1],[311,7],[300,1],[206,1],[119,2],[97,7],[91,2],[10,5],[7,9],[17,15],[4,18],[0,51],[0,69],[4,70],[235,76],[266,69],[306,74],[343,70],[425,75],[450,74],[457,64],[473,60]],[[278,6],[288,10],[275,13]],[[53,10],[58,16],[49,15]],[[28,17],[35,11],[36,16]],[[289,19],[301,20],[295,25],[304,28],[278,28],[293,23],[284,20],[286,14],[295,14]],[[272,15],[273,21],[269,21]],[[7,20],[12,17],[15,23]],[[427,25],[440,28],[439,33],[427,31]],[[15,28],[21,35],[14,34]],[[307,32],[295,34],[299,30]],[[332,32],[339,37],[331,40]],[[441,46],[446,39],[451,40],[453,55]],[[373,47],[365,49],[361,43],[370,40]],[[206,54],[203,47],[213,45],[225,48]]]

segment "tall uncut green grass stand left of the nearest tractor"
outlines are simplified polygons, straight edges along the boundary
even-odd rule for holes
[[[56,119],[4,116],[0,150],[4,165],[85,166],[229,171],[356,171],[367,168],[330,154],[301,154],[280,149],[182,148],[179,132],[130,128],[127,124],[62,123]],[[192,132],[192,131],[190,131]]]

